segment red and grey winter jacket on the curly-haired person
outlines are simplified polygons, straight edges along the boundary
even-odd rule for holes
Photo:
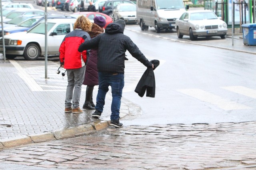
[[[89,51],[78,52],[78,47],[84,41],[90,40],[90,35],[82,29],[75,29],[68,33],[60,45],[60,64],[65,69],[77,69],[84,66],[90,56]]]

